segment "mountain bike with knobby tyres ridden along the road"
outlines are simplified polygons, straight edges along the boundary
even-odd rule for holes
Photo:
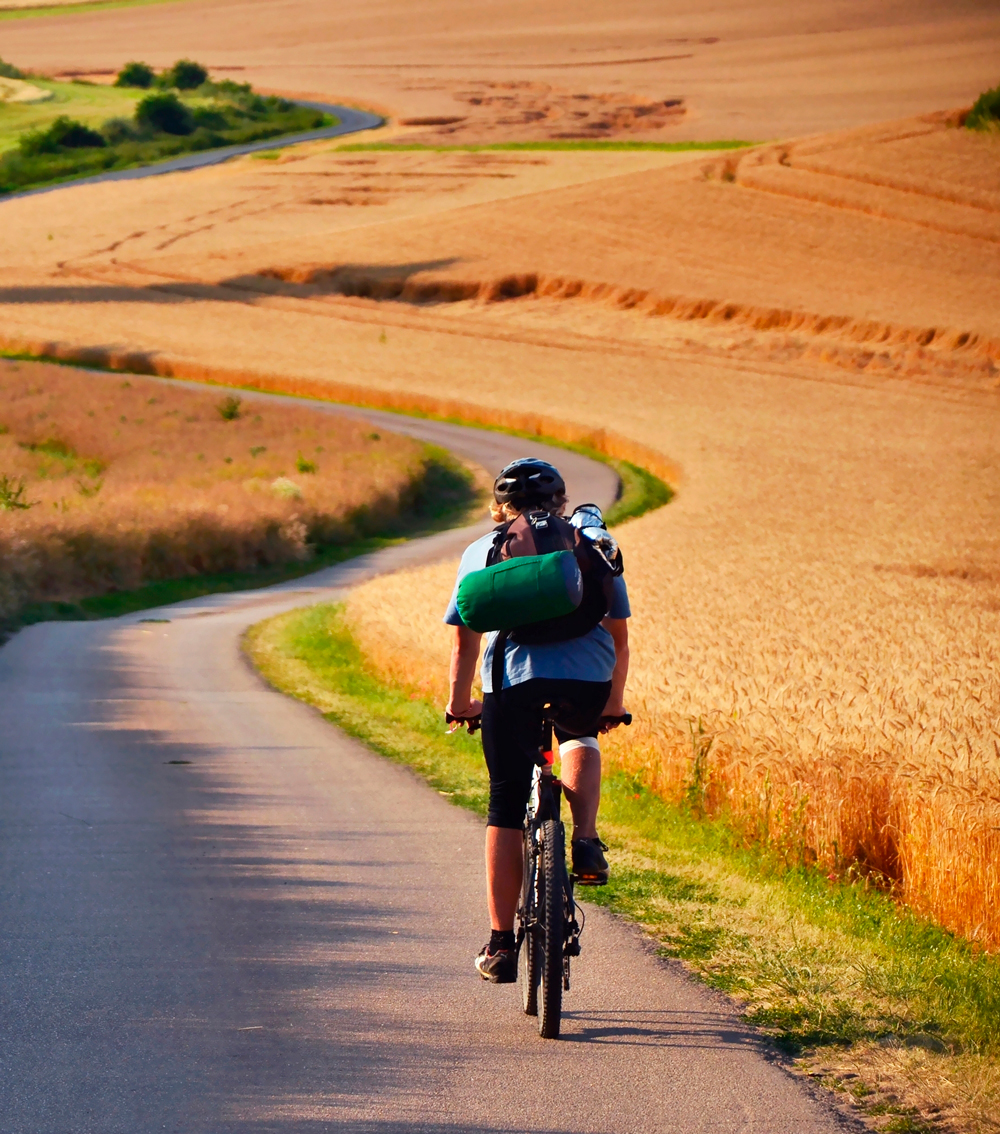
[[[455,728],[466,726],[469,733],[481,725],[478,717],[446,713],[444,719]],[[630,723],[632,713],[601,718],[602,729]],[[559,1038],[562,993],[569,991],[569,962],[579,956],[586,923],[573,896],[575,877],[566,869],[562,784],[552,771],[552,718],[545,717],[524,821],[524,878],[516,934],[522,1007],[526,1016],[537,1016],[539,1035],[546,1040]]]

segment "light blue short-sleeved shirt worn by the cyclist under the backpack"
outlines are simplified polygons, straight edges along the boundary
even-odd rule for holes
[[[473,570],[482,570],[486,566],[486,558],[493,547],[493,533],[471,543],[465,549],[461,564],[458,567],[458,577],[455,581],[455,590],[451,592],[451,601],[444,613],[444,621],[449,626],[461,626],[461,615],[456,606],[458,584]],[[628,604],[628,591],[625,579],[619,575],[615,579],[615,594],[611,600],[611,609],[608,611],[609,618],[629,618],[632,608]],[[486,652],[483,654],[483,667],[481,677],[483,692],[493,692],[492,666],[493,646],[497,642],[497,632],[493,631],[486,636]],[[570,638],[568,642],[544,642],[534,645],[519,645],[507,640],[507,653],[505,654],[503,687],[509,685],[520,685],[522,682],[529,682],[533,677],[557,677],[569,678],[577,682],[610,682],[615,671],[615,641],[603,626],[595,626],[583,637]]]

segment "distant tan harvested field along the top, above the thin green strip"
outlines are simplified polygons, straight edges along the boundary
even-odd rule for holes
[[[583,121],[587,136],[766,139],[971,103],[997,82],[1000,16],[986,0],[226,0],[18,19],[3,40],[5,58],[46,74],[195,53],[215,77],[424,119],[406,128],[425,137],[457,126],[450,137],[520,139]],[[605,113],[588,112],[604,99]],[[653,125],[658,105],[675,112]]]

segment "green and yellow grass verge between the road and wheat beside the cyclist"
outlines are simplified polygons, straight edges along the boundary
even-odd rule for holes
[[[253,627],[263,676],[480,814],[477,741],[366,663],[344,610]],[[747,847],[610,768],[601,809],[613,874],[587,896],[638,922],[664,956],[736,997],[799,1069],[875,1128],[1000,1131],[1000,958],[898,907],[863,879],[831,881]]]

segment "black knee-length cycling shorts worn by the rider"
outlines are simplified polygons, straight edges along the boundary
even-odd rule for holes
[[[511,685],[498,697],[483,696],[483,754],[490,770],[489,827],[519,830],[524,823],[532,771],[542,743],[545,706],[554,721],[556,738],[596,736],[610,682],[575,682],[533,677]]]

